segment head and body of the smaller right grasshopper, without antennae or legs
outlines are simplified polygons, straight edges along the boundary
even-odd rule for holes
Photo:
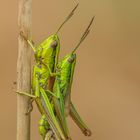
[[[70,109],[71,85],[73,80],[75,62],[76,55],[70,54],[65,56],[57,66],[60,75],[56,76],[53,91],[54,93],[57,92],[56,85],[58,84],[59,81],[60,91],[65,101],[65,115],[69,114]]]

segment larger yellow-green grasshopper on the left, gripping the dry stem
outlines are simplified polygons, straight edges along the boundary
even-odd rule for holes
[[[32,101],[33,100],[36,101],[38,109],[42,114],[42,119],[44,119],[45,127],[49,128],[50,125],[51,129],[55,133],[55,136],[58,140],[61,139],[65,140],[67,139],[67,137],[64,135],[64,132],[61,129],[61,126],[54,114],[53,104],[50,101],[50,97],[52,95],[47,94],[48,93],[47,87],[50,86],[49,85],[50,79],[53,76],[57,75],[54,69],[58,61],[60,49],[60,41],[57,34],[64,25],[64,23],[66,23],[66,21],[68,21],[68,19],[72,17],[77,6],[78,4],[69,14],[66,20],[61,24],[57,32],[54,35],[51,35],[49,38],[45,39],[37,47],[34,47],[33,43],[30,40],[27,40],[26,37],[24,37],[23,33],[21,33],[22,37],[25,40],[27,40],[27,42],[30,44],[30,46],[34,51],[36,64],[34,65],[33,68],[33,80],[32,80],[33,95],[24,92],[17,93],[29,96],[32,98]],[[46,123],[46,120],[48,121],[48,123]],[[42,124],[42,122],[40,122],[40,124]],[[42,134],[42,138],[44,140],[46,132],[44,131],[44,129],[41,128],[41,126],[39,127],[39,131],[40,134]]]

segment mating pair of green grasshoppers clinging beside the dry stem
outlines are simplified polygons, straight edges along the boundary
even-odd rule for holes
[[[75,49],[58,62],[60,41],[57,34],[64,23],[72,17],[77,7],[78,4],[61,24],[58,31],[37,47],[34,47],[32,41],[27,40],[24,34],[21,33],[22,37],[27,40],[35,53],[36,64],[33,68],[33,94],[19,91],[17,93],[31,97],[31,102],[33,100],[36,101],[38,109],[42,114],[39,123],[39,132],[43,140],[50,129],[57,140],[71,139],[66,121],[66,116],[68,115],[72,117],[86,136],[91,135],[91,131],[82,121],[71,102],[71,86],[76,63],[75,51],[88,35],[94,18],[92,18]]]

